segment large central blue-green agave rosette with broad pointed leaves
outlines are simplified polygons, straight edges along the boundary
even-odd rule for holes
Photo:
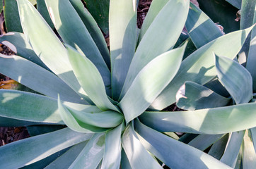
[[[245,130],[252,116],[245,126],[226,121],[237,111],[161,110],[185,81],[211,81],[213,52],[234,58],[252,27],[222,36],[190,1],[154,0],[138,30],[136,1],[111,0],[109,54],[81,1],[45,0],[61,39],[28,0],[17,3],[24,34],[1,37],[17,55],[1,55],[0,73],[36,93],[0,90],[0,125],[35,136],[1,146],[1,168],[230,168],[174,132]],[[178,45],[184,25],[190,37]]]

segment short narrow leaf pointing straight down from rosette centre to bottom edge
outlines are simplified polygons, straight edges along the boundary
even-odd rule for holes
[[[107,131],[105,134],[105,150],[101,168],[115,169],[120,168],[121,161],[121,134],[124,123]]]

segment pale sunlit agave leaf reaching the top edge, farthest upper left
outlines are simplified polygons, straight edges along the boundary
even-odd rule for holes
[[[57,35],[28,0],[18,0],[17,2],[25,38],[30,42],[35,54],[52,72],[92,104],[86,93],[81,90],[81,86],[72,72],[66,49]]]

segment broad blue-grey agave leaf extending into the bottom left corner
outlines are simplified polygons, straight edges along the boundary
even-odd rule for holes
[[[56,132],[50,132],[28,139],[19,140],[0,147],[1,168],[21,168],[25,165],[40,161],[69,146],[84,142],[92,137],[92,134],[83,134],[64,128]],[[35,145],[35,146],[30,146]],[[10,159],[15,158],[13,163]]]

